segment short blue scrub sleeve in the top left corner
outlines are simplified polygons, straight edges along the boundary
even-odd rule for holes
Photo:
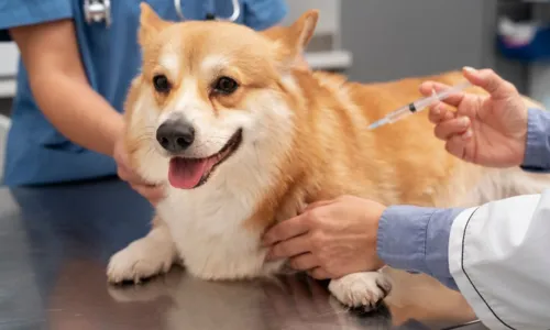
[[[73,18],[72,0],[0,0],[0,31]]]

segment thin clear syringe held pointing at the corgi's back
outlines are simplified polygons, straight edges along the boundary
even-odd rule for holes
[[[444,100],[447,99],[449,96],[458,92],[458,91],[461,91],[468,87],[472,86],[472,84],[470,84],[470,81],[464,81],[464,82],[461,82],[459,85],[455,85],[447,90],[443,90],[439,94],[436,94],[436,90],[433,90],[432,95],[430,97],[426,97],[426,98],[421,98],[421,99],[418,99],[411,103],[408,103],[407,106],[405,107],[402,107],[393,112],[389,112],[388,114],[386,114],[386,117],[384,117],[383,119],[378,120],[378,121],[375,121],[373,122],[372,124],[369,125],[369,129],[370,130],[374,130],[376,128],[380,128],[380,127],[383,127],[385,124],[388,124],[388,123],[394,123],[396,121],[399,121],[406,117],[408,117],[409,114],[413,114],[413,113],[416,113],[416,112],[420,112],[422,111],[424,109],[428,108],[429,106],[431,106],[432,103],[437,102],[437,101],[441,101],[441,100]]]

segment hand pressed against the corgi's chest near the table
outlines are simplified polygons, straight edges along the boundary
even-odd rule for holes
[[[385,207],[352,196],[309,205],[264,235],[267,260],[290,258],[290,266],[317,279],[374,271],[384,264],[376,254],[378,219]]]

